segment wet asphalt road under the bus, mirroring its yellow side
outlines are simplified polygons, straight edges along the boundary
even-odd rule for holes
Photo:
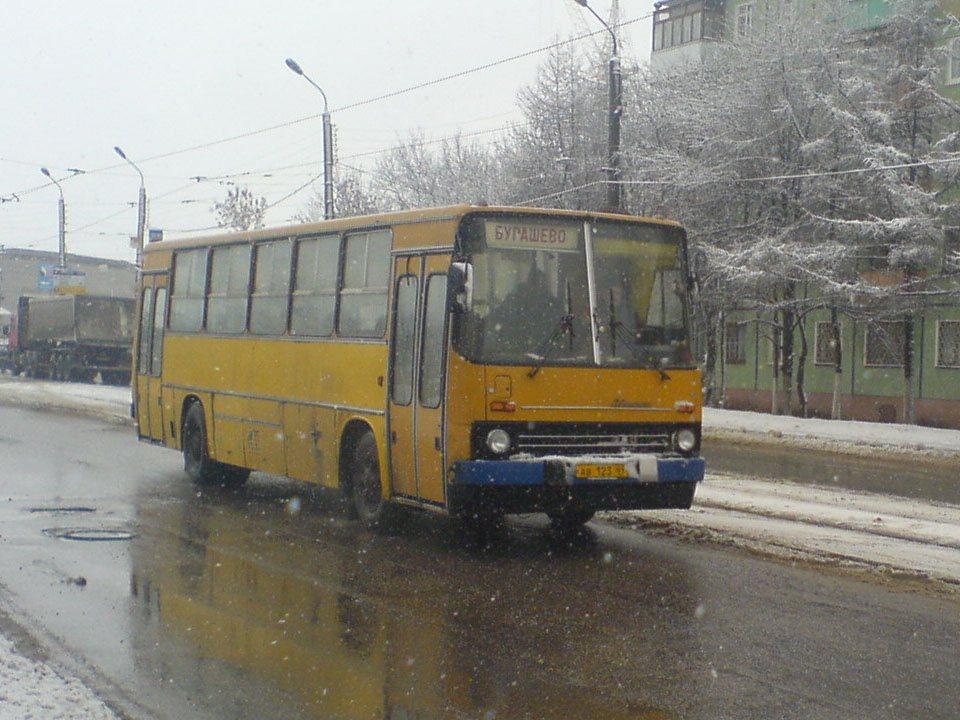
[[[594,523],[386,536],[0,407],[0,630],[131,718],[955,718],[960,603]]]

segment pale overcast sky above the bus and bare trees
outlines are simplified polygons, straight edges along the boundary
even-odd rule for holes
[[[591,2],[603,17],[611,4]],[[620,0],[622,22],[652,9]],[[545,54],[376,98],[597,30],[581,42],[609,48],[574,0],[5,0],[0,245],[57,250],[44,166],[63,188],[68,252],[132,261],[140,181],[115,145],[143,170],[148,225],[168,237],[214,225],[226,182],[267,198],[268,225],[288,222],[322,190],[294,193],[322,172],[323,105],[287,57],[327,94],[338,163],[369,169],[418,129],[517,121],[517,90]],[[648,19],[624,30],[625,60],[646,59],[649,34]]]

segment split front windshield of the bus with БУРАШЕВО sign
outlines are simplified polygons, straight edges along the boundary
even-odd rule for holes
[[[454,342],[503,365],[691,367],[676,228],[474,216],[461,229],[471,301]]]

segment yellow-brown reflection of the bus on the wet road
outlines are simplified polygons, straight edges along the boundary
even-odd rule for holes
[[[626,567],[593,549],[542,548],[504,562],[465,553],[452,529],[449,542],[422,547],[371,542],[309,503],[294,517],[276,499],[251,507],[212,493],[190,511],[141,500],[140,521],[162,531],[131,553],[135,665],[201,708],[662,720],[673,715],[661,698],[687,703],[703,691],[696,595],[675,560]]]

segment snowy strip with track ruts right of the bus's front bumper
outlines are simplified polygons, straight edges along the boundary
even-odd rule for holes
[[[708,474],[690,510],[604,515],[621,525],[960,590],[960,507],[953,505]]]

